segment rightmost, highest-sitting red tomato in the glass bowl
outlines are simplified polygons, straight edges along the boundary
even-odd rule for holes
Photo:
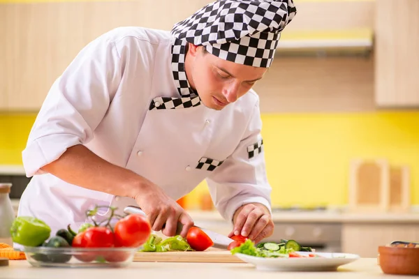
[[[139,247],[149,239],[152,227],[145,216],[130,214],[116,223],[114,232],[116,246]]]

